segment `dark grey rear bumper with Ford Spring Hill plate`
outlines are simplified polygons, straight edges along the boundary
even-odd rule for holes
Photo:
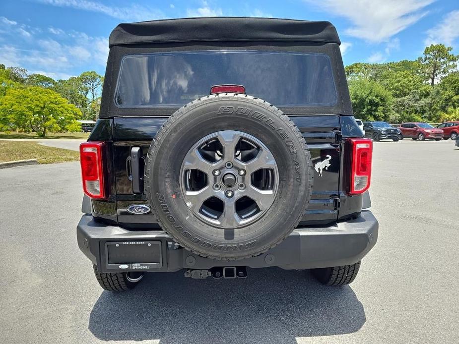
[[[378,221],[371,211],[362,210],[355,220],[334,223],[328,227],[295,229],[285,240],[269,251],[252,258],[220,261],[200,257],[176,244],[161,230],[128,230],[97,223],[91,215],[83,215],[76,229],[78,246],[100,272],[178,271],[180,269],[210,269],[220,266],[248,266],[283,269],[313,269],[354,264],[376,244]],[[159,249],[160,263],[109,264],[107,243],[159,242],[151,245]],[[133,252],[135,253],[135,252]],[[120,266],[122,268],[120,268]],[[124,269],[123,269],[124,268]]]

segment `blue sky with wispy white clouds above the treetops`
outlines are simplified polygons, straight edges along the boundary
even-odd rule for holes
[[[457,0],[3,0],[0,63],[55,79],[103,74],[118,23],[192,16],[329,20],[345,64],[414,59],[431,43],[459,53]]]

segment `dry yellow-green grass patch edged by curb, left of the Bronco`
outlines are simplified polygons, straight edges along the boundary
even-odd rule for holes
[[[30,141],[0,141],[0,163],[13,160],[37,159],[40,164],[80,160],[79,152],[42,146]]]

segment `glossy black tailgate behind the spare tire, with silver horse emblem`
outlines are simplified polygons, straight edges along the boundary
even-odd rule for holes
[[[131,152],[140,148],[143,158],[156,132],[167,117],[115,117],[112,122],[112,154],[116,214],[120,225],[156,227],[154,215],[131,214],[131,205],[148,204],[142,188],[143,180],[132,178]],[[302,225],[329,223],[337,219],[340,171],[340,121],[338,115],[292,116],[309,146],[314,171],[312,199]],[[171,157],[173,159],[173,157]],[[328,164],[322,163],[328,160]],[[144,161],[139,161],[140,170]],[[322,173],[320,173],[322,171]],[[141,173],[140,173],[141,174]],[[134,180],[132,180],[134,179]],[[136,193],[134,190],[137,189]],[[140,191],[140,192],[139,192]]]

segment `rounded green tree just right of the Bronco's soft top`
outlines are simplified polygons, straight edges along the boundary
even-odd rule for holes
[[[393,118],[391,93],[373,80],[349,82],[354,115],[364,120],[390,121]]]

